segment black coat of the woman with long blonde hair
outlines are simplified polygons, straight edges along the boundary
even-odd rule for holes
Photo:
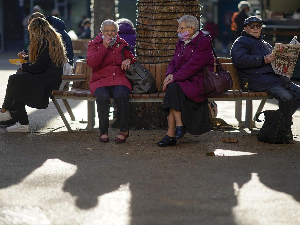
[[[24,73],[26,79],[13,99],[32,108],[46,109],[51,92],[57,90],[61,84],[63,67],[54,67],[50,59],[48,46],[46,46],[38,55],[35,64],[23,63],[22,70],[26,72]]]

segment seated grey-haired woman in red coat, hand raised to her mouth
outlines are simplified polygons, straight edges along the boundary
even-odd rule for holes
[[[117,106],[120,134],[115,138],[116,143],[125,143],[129,137],[129,93],[131,83],[125,76],[130,64],[137,60],[129,50],[122,48],[127,42],[118,35],[119,25],[107,19],[101,24],[101,32],[95,40],[88,43],[86,62],[92,70],[90,80],[91,94],[96,97],[99,117],[100,142],[108,142],[108,125],[110,97]]]

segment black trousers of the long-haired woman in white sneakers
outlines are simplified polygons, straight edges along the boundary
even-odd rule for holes
[[[12,107],[13,97],[18,92],[20,86],[22,85],[25,79],[26,74],[23,73],[13,74],[9,76],[2,108],[4,108],[5,110],[9,110]],[[25,104],[18,101],[14,101],[14,105],[16,112],[19,116],[19,123],[22,125],[29,124]]]

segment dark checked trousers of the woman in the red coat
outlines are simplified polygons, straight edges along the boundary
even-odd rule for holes
[[[96,89],[94,96],[96,97],[99,130],[101,134],[108,133],[108,125],[110,123],[108,119],[110,114],[110,96],[114,98],[117,106],[120,131],[129,130],[129,93],[130,89],[125,85],[100,87]]]

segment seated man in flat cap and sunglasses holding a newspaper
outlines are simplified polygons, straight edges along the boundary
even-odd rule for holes
[[[286,118],[284,132],[293,140],[292,115],[300,107],[300,88],[286,76],[274,72],[271,62],[273,47],[262,40],[262,20],[250,16],[244,21],[244,30],[232,45],[232,63],[241,78],[249,79],[250,91],[263,91],[278,100],[279,110]]]

